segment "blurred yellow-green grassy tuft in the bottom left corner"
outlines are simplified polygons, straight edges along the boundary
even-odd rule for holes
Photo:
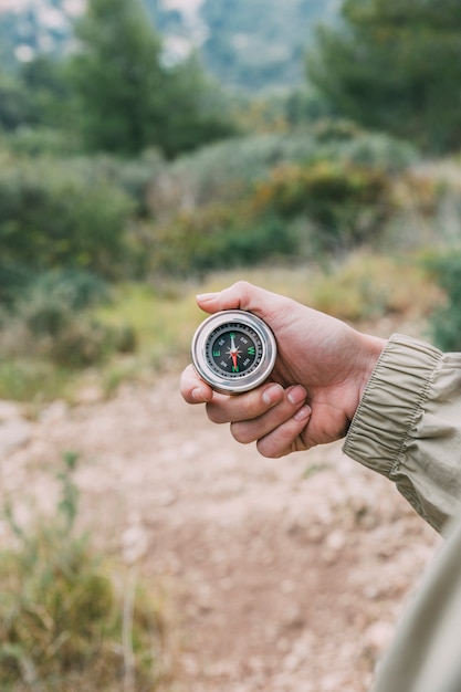
[[[6,504],[14,544],[3,541],[0,559],[4,692],[122,692],[128,681],[139,692],[157,686],[160,611],[139,589],[133,602],[132,594],[121,597],[102,556],[77,532],[76,460],[64,455],[51,517],[39,514],[22,527]]]

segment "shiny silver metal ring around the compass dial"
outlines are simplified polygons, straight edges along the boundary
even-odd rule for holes
[[[252,329],[261,343],[261,357],[255,367],[239,375],[226,376],[218,367],[210,364],[210,339],[220,327],[229,325],[229,331],[238,331],[239,326]],[[256,315],[243,310],[226,310],[205,319],[192,338],[191,355],[193,367],[216,391],[221,394],[241,394],[249,391],[268,379],[275,364],[276,343],[271,328]]]

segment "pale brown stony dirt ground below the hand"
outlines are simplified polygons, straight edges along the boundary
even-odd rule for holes
[[[25,412],[0,402],[2,493],[24,516],[31,493],[52,508],[51,471],[78,453],[81,523],[163,585],[172,689],[368,690],[439,543],[386,479],[340,444],[263,459],[184,403],[177,376]]]

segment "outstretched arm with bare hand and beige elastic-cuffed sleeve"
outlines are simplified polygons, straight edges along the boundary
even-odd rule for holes
[[[181,391],[230,422],[239,442],[281,457],[346,437],[353,459],[387,475],[440,531],[461,502],[461,354],[395,336],[360,334],[327,315],[250,284],[199,298],[207,312],[241,307],[272,327],[279,346],[265,384],[216,395],[189,367]]]

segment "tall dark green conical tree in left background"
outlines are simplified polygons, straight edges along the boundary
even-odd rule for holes
[[[134,154],[165,116],[161,44],[138,0],[90,0],[76,23],[81,48],[71,82],[82,106],[82,129],[93,149]]]

